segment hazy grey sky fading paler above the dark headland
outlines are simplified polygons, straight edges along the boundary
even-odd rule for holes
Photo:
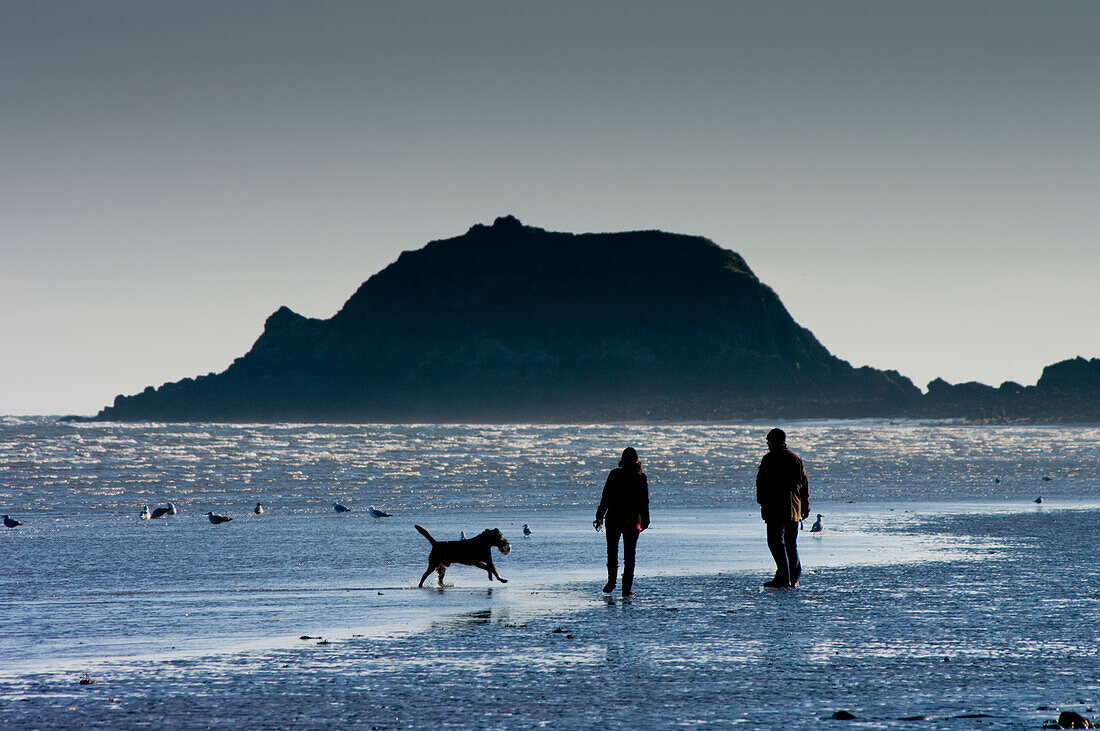
[[[1100,356],[1100,3],[0,0],[0,414],[514,214],[741,254],[854,365]]]

